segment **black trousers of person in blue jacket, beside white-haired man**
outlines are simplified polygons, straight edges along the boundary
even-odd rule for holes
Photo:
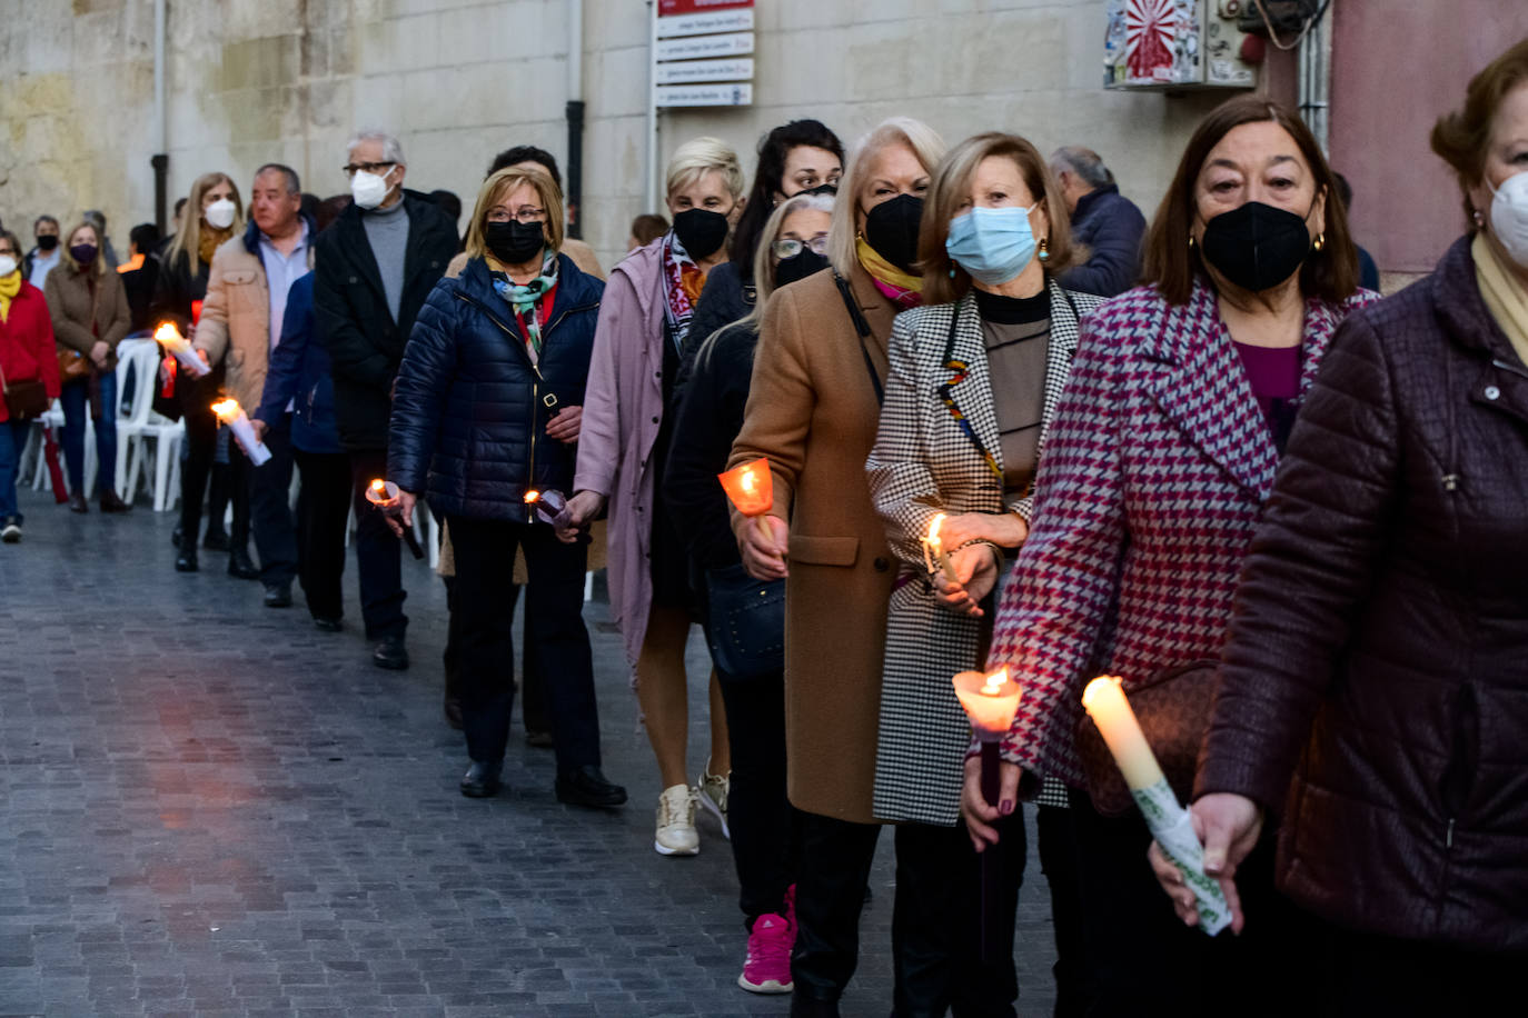
[[[350,519],[350,459],[342,452],[292,450],[303,487],[296,496],[298,581],[313,618],[341,618],[345,598],[345,523]]]

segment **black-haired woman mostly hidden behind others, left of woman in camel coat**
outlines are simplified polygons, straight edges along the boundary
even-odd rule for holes
[[[817,121],[792,121],[759,142],[749,200],[727,241],[727,263],[706,276],[706,292],[695,307],[695,322],[685,350],[685,363],[723,325],[747,316],[758,301],[753,255],[767,234],[764,223],[779,203],[796,194],[833,194],[843,176],[843,145]],[[688,375],[688,369],[683,372]]]

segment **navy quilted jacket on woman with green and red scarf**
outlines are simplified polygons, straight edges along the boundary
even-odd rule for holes
[[[442,516],[530,520],[530,487],[571,495],[576,447],[547,438],[549,400],[582,406],[605,284],[558,255],[558,287],[530,363],[515,313],[474,258],[414,322],[388,430],[388,478]]]

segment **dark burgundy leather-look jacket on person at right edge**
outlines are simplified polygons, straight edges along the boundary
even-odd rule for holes
[[[1468,240],[1343,324],[1264,513],[1198,794],[1335,923],[1528,951],[1528,366]]]

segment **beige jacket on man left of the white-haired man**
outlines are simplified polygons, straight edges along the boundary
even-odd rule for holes
[[[307,267],[313,267],[312,237]],[[194,345],[206,351],[212,365],[226,359],[223,391],[254,415],[266,388],[270,359],[270,290],[266,267],[260,255],[244,247],[243,235],[223,241],[212,255]]]

